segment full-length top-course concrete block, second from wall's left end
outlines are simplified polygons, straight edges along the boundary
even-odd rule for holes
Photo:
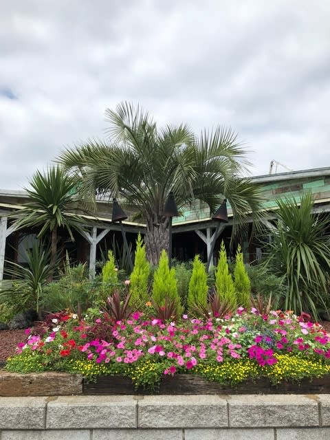
[[[132,396],[58,397],[47,406],[47,429],[135,428]]]

